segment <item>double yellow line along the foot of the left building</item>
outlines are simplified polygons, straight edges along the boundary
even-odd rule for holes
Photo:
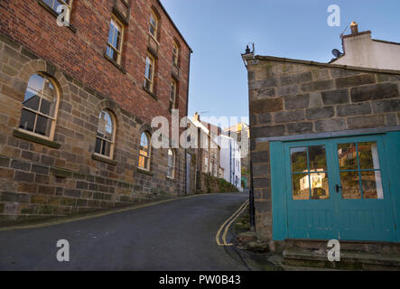
[[[69,219],[59,219],[59,220],[53,220],[53,221],[49,221],[49,222],[32,224],[32,225],[19,225],[19,226],[13,226],[13,227],[5,227],[5,228],[0,228],[0,232],[1,231],[11,231],[11,230],[16,230],[16,229],[50,227],[50,226],[54,226],[54,225],[60,225],[60,224],[76,222],[76,221],[84,220],[84,219],[95,219],[95,218],[104,217],[104,216],[107,216],[107,215],[112,215],[112,214],[116,214],[116,213],[125,212],[125,211],[128,211],[128,210],[142,209],[142,208],[146,208],[146,207],[160,205],[160,204],[163,204],[163,203],[166,203],[166,202],[170,202],[170,201],[173,201],[173,200],[186,200],[186,199],[204,197],[204,196],[210,196],[210,195],[219,195],[219,193],[207,193],[207,194],[200,194],[200,195],[191,195],[191,196],[186,196],[186,197],[181,197],[181,198],[176,198],[176,199],[170,199],[170,200],[159,200],[159,201],[156,201],[156,202],[151,202],[151,203],[147,203],[147,204],[144,204],[144,205],[137,205],[137,206],[134,206],[134,207],[131,206],[131,207],[123,208],[123,209],[119,209],[119,210],[109,210],[109,211],[105,211],[105,212],[101,212],[101,213],[94,212],[94,213],[91,213],[88,216],[82,216],[82,217],[76,217],[76,218],[71,217]]]

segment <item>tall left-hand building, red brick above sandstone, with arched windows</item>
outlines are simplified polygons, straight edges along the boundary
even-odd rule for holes
[[[0,220],[186,193],[185,150],[150,145],[153,117],[188,108],[191,48],[160,1],[4,0],[0,14]]]

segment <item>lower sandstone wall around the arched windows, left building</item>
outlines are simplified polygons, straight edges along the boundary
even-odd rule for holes
[[[166,178],[165,149],[153,149],[150,172],[138,170],[140,135],[152,128],[113,98],[5,36],[0,36],[0,71],[0,222],[184,194],[184,150],[175,151],[174,180]],[[60,90],[52,141],[17,129],[28,80],[37,72],[54,79]],[[116,118],[113,160],[93,154],[102,109]]]

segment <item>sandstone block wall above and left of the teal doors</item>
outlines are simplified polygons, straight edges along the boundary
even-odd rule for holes
[[[257,60],[247,61],[256,229],[270,240],[269,142],[379,127],[399,130],[400,72],[272,57]]]

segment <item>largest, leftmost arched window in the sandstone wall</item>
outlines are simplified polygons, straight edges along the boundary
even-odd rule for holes
[[[23,98],[20,129],[52,139],[54,136],[60,91],[43,74],[33,74]]]

